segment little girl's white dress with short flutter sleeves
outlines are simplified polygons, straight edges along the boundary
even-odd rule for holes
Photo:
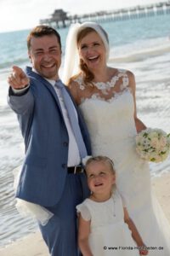
[[[131,230],[123,219],[123,205],[116,190],[108,201],[86,199],[77,206],[82,218],[91,221],[89,245],[94,256],[139,256]]]

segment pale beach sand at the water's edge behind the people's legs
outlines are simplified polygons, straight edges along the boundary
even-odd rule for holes
[[[157,200],[161,204],[168,222],[170,223],[170,174],[165,173],[161,177],[152,178],[152,188]],[[48,248],[42,241],[39,231],[26,236],[20,241],[0,249],[1,256],[48,256]]]

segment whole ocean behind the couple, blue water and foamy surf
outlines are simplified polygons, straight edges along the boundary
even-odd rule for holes
[[[126,68],[135,74],[139,119],[148,127],[170,132],[170,15],[101,25],[110,38],[110,66]],[[0,247],[37,230],[36,222],[22,217],[14,207],[13,172],[23,161],[24,146],[16,116],[7,104],[7,77],[11,67],[29,65],[28,32],[0,33]],[[59,29],[63,59],[67,32],[68,28]],[[170,158],[150,164],[152,177],[163,172],[170,172]]]

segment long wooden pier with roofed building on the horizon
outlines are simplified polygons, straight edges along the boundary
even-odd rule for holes
[[[154,15],[170,14],[170,0],[161,3],[153,3],[147,5],[138,5],[131,8],[114,9],[111,11],[99,11],[85,15],[69,15],[63,9],[55,9],[54,13],[48,19],[40,20],[40,24],[54,27],[66,27],[71,23],[82,23],[84,21],[117,21],[132,20]]]

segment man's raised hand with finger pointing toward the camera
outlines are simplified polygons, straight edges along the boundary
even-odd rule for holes
[[[15,90],[20,90],[28,86],[30,79],[26,76],[26,73],[17,66],[12,67],[12,73],[8,76],[8,84]]]

